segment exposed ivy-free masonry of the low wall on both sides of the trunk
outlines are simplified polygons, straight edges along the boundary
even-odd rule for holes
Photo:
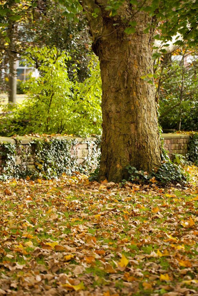
[[[184,134],[162,134],[164,138],[164,148],[168,150],[170,159],[174,158],[173,153],[179,153],[185,155],[188,149],[188,141],[189,136]],[[99,150],[97,138],[80,138],[80,137],[56,137],[58,139],[71,139],[75,140],[75,144],[71,146],[70,155],[71,160],[75,160],[78,165],[84,165],[87,163],[90,166],[90,169],[94,169],[97,165],[95,153]],[[0,152],[5,150],[1,143],[11,143],[16,147],[15,154],[15,164],[18,165],[20,171],[33,171],[35,169],[35,147],[34,145],[30,145],[31,141],[34,139],[39,139],[44,141],[46,139],[38,138],[38,137],[0,137]],[[18,145],[16,145],[18,144]],[[94,154],[95,153],[95,154]],[[6,159],[6,155],[0,153],[0,175],[4,173],[3,171],[3,163],[5,165],[4,159]],[[90,162],[89,159],[93,159],[94,161]],[[8,163],[9,166],[9,163]]]

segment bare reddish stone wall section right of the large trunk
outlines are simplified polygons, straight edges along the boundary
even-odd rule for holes
[[[168,151],[170,159],[174,159],[173,154],[185,155],[188,151],[189,135],[185,134],[162,134],[164,138],[164,148]]]

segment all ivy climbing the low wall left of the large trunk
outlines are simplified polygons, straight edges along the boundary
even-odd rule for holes
[[[88,155],[84,157],[84,161],[78,164],[76,156],[71,155],[71,149],[75,148],[78,143],[87,144]],[[50,140],[41,141],[33,140],[28,146],[28,152],[22,152],[21,162],[27,161],[30,154],[34,157],[34,166],[31,169],[24,165],[16,164],[17,152],[21,148],[20,143],[11,144],[4,143],[0,149],[0,159],[2,159],[2,173],[1,180],[11,178],[24,178],[30,176],[32,179],[43,178],[51,179],[58,178],[64,172],[71,175],[75,171],[89,173],[93,170],[93,166],[97,166],[98,155],[100,154],[100,138],[96,141],[84,140],[78,142],[78,139],[58,139],[52,138]]]

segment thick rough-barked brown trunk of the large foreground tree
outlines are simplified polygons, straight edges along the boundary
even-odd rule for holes
[[[150,171],[161,163],[154,85],[140,79],[152,72],[153,31],[143,31],[152,19],[133,11],[129,1],[109,17],[105,0],[84,0],[84,10],[99,58],[102,78],[102,142],[98,180],[128,178],[127,165]],[[97,18],[93,18],[98,8]],[[136,33],[127,35],[126,21],[136,21]],[[117,24],[113,26],[113,24]]]

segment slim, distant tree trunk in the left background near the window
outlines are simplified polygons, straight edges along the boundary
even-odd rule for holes
[[[16,92],[17,92],[17,61],[16,57],[11,56],[9,62],[9,92],[8,101],[16,103]]]

